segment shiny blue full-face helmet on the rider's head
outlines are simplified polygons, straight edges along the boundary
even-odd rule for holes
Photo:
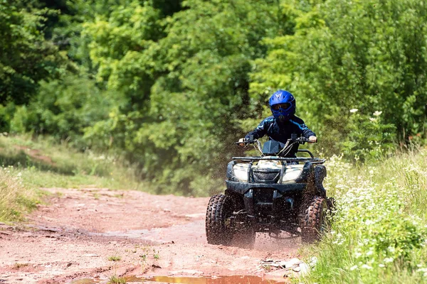
[[[273,116],[280,121],[287,121],[295,114],[295,97],[283,89],[279,89],[270,97],[269,104]]]

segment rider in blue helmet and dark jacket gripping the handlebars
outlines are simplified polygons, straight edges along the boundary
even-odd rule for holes
[[[286,143],[291,138],[292,133],[304,136],[312,142],[317,141],[316,134],[305,126],[302,119],[295,116],[295,97],[290,92],[279,89],[270,97],[269,104],[273,116],[268,116],[268,118],[261,121],[256,129],[249,132],[245,138],[241,138],[239,140],[239,142],[242,142],[241,146],[253,139],[261,138],[265,134],[270,139],[280,143]],[[296,143],[285,157],[295,158],[298,146],[298,143]]]

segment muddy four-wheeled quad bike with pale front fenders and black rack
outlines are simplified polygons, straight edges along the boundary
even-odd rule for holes
[[[286,231],[311,242],[327,229],[327,211],[332,199],[322,185],[326,177],[325,160],[283,158],[296,144],[310,142],[292,135],[286,144],[267,141],[257,157],[233,157],[227,167],[226,190],[209,200],[206,211],[206,237],[209,244],[230,246],[233,238],[251,248],[256,232],[275,238]],[[237,142],[234,144],[238,144]],[[294,148],[295,149],[295,148]]]

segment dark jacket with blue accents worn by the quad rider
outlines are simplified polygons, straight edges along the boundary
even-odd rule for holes
[[[286,143],[292,133],[296,133],[297,136],[304,136],[309,138],[310,136],[316,136],[316,134],[311,131],[305,124],[302,119],[297,116],[291,116],[288,121],[283,123],[276,121],[274,116],[268,116],[268,118],[261,121],[256,129],[249,132],[246,135],[246,138],[253,135],[254,139],[261,138],[267,135],[270,139],[275,141]],[[298,150],[298,144],[296,144],[290,153],[286,155],[287,157],[295,157],[295,153]]]

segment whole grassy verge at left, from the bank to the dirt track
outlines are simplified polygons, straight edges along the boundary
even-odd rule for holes
[[[0,166],[0,222],[21,220],[41,202],[43,187],[152,189],[117,156],[80,153],[48,138],[0,136]]]

